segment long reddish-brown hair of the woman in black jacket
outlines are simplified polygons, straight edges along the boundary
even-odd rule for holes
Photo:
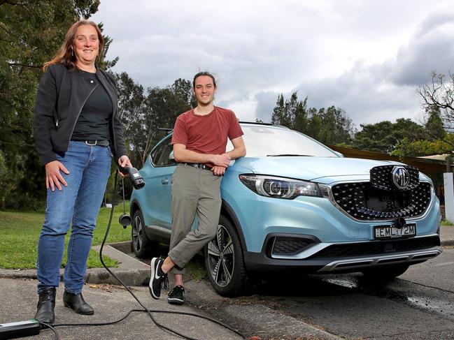
[[[54,64],[63,64],[66,66],[66,68],[69,68],[70,71],[76,70],[76,54],[73,52],[74,50],[74,39],[76,38],[76,31],[79,26],[82,25],[90,25],[96,29],[97,34],[98,34],[98,40],[99,40],[99,52],[98,55],[95,59],[95,63],[99,61],[99,58],[102,54],[103,48],[104,48],[104,38],[101,34],[101,30],[99,29],[98,25],[95,24],[94,22],[90,20],[80,20],[78,22],[75,22],[69,30],[66,32],[66,36],[64,38],[64,42],[62,46],[60,46],[57,54],[55,54],[55,57],[52,58],[52,60],[48,61],[47,63],[44,64],[43,70],[45,71],[46,68],[48,68],[49,65],[54,65]]]

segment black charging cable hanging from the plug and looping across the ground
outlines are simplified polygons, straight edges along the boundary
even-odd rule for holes
[[[108,273],[111,274],[123,287],[126,288],[126,290],[129,292],[129,294],[131,294],[134,297],[134,299],[143,307],[143,309],[131,309],[128,313],[125,314],[125,316],[123,316],[119,320],[111,321],[111,322],[108,322],[108,323],[61,323],[61,324],[57,324],[57,325],[48,325],[46,323],[41,323],[41,325],[44,325],[45,327],[50,328],[50,330],[52,330],[52,332],[55,333],[55,339],[58,340],[59,337],[58,337],[57,331],[55,330],[55,327],[68,327],[68,326],[90,327],[90,326],[114,325],[115,323],[120,323],[122,320],[125,320],[125,318],[127,318],[132,312],[137,311],[137,312],[148,313],[148,316],[150,316],[150,318],[153,321],[153,323],[155,323],[155,325],[157,325],[157,327],[161,328],[162,330],[166,330],[168,332],[171,332],[172,334],[178,335],[178,337],[182,337],[183,339],[199,340],[197,338],[192,338],[192,337],[188,337],[188,336],[186,336],[184,334],[180,334],[176,330],[172,330],[170,327],[166,327],[166,326],[162,325],[161,323],[158,323],[157,320],[152,316],[152,313],[171,313],[171,314],[180,314],[180,315],[186,315],[186,316],[195,316],[197,318],[202,318],[202,319],[211,321],[212,323],[215,323],[217,325],[225,327],[227,330],[230,330],[230,331],[234,332],[235,334],[238,334],[243,339],[247,339],[243,334],[241,334],[237,330],[234,330],[232,327],[229,327],[228,325],[225,325],[224,323],[221,323],[220,321],[215,320],[213,318],[208,318],[208,316],[200,316],[200,315],[195,314],[195,313],[188,313],[188,312],[184,312],[184,311],[164,311],[164,310],[161,310],[161,309],[148,309],[146,306],[143,305],[141,300],[139,300],[139,297],[136,297],[136,295],[132,292],[132,290],[130,290],[129,287],[123,281],[121,281],[121,279],[118,276],[116,276],[111,271],[111,269],[109,269],[107,267],[107,265],[104,263],[104,260],[102,258],[102,251],[104,249],[104,244],[106,243],[106,239],[108,237],[108,232],[111,229],[112,218],[113,218],[113,210],[115,208],[115,193],[117,191],[117,179],[118,179],[118,172],[115,172],[115,184],[114,184],[114,189],[113,189],[114,194],[113,194],[111,215],[109,216],[109,221],[108,221],[108,224],[107,224],[106,234],[104,235],[104,239],[103,239],[103,241],[101,243],[101,248],[99,249],[99,259],[101,260],[101,264],[108,271]]]

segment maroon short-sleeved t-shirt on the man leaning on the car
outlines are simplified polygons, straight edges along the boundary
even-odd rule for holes
[[[199,154],[224,154],[227,138],[234,140],[241,135],[234,112],[215,106],[204,116],[194,114],[194,110],[180,114],[173,128],[172,145],[183,144]]]

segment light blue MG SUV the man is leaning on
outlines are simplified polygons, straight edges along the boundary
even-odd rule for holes
[[[417,168],[344,158],[283,126],[241,128],[247,155],[225,172],[218,232],[204,249],[220,295],[242,293],[256,272],[283,269],[390,279],[441,253],[439,200]],[[146,186],[132,193],[136,256],[169,243],[175,168],[169,134],[140,170]]]

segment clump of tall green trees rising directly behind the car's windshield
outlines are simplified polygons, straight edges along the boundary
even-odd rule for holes
[[[346,112],[334,106],[319,110],[308,108],[307,101],[307,97],[299,101],[296,91],[290,99],[284,99],[280,94],[271,115],[271,123],[305,133],[325,144],[349,145],[355,128]]]

